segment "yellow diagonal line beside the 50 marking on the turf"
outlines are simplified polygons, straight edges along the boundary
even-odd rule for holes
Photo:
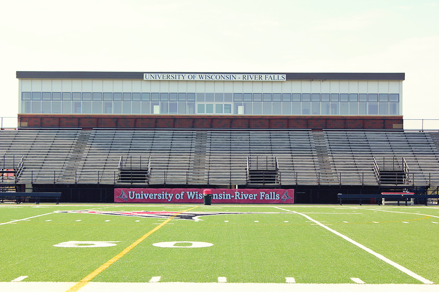
[[[151,230],[150,232],[148,232],[147,234],[145,234],[144,236],[140,237],[139,239],[136,240],[136,242],[134,242],[133,244],[131,244],[130,246],[128,246],[126,249],[124,249],[122,252],[120,252],[119,255],[113,257],[112,259],[110,259],[109,261],[107,261],[106,263],[104,263],[102,266],[100,266],[98,269],[96,269],[95,271],[93,271],[91,274],[87,275],[85,278],[83,278],[82,280],[80,280],[78,283],[75,284],[75,286],[73,286],[72,288],[70,288],[69,290],[67,290],[66,292],[76,292],[78,290],[80,290],[82,287],[84,287],[85,285],[87,285],[88,282],[90,282],[94,277],[96,277],[97,275],[99,275],[100,273],[102,273],[106,268],[108,268],[110,265],[112,265],[113,263],[115,263],[118,259],[120,259],[122,256],[125,256],[129,251],[131,251],[134,247],[136,247],[140,242],[142,242],[146,237],[150,236],[151,234],[153,234],[154,232],[156,232],[157,230],[159,230],[161,227],[163,227],[166,223],[168,223],[169,221],[171,221],[172,219],[174,219],[175,217],[177,217],[178,215],[180,215],[181,213],[187,212],[189,210],[195,209],[198,206],[195,206],[193,208],[184,210],[184,211],[180,211],[177,214],[175,214],[174,216],[172,216],[171,218],[167,219],[166,221],[163,221],[162,223],[160,223],[160,225],[158,225],[156,228],[154,228],[153,230]]]

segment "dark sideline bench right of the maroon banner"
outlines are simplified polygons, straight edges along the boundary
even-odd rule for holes
[[[349,194],[349,195],[343,195],[338,194],[337,197],[339,198],[340,205],[341,200],[359,200],[359,204],[361,205],[361,200],[370,200],[370,199],[378,199],[379,200],[391,200],[391,201],[398,201],[398,206],[400,201],[405,201],[405,205],[407,206],[407,201],[411,201],[414,199],[417,200],[425,200],[425,205],[427,205],[428,199],[439,199],[439,195],[415,195],[415,193],[381,193],[381,194]]]

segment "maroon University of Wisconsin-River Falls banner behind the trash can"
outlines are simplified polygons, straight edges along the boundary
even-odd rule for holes
[[[203,203],[204,189],[114,189],[115,203]],[[212,189],[212,203],[294,203],[294,190]]]

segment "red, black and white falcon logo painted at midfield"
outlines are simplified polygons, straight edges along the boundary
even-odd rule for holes
[[[213,215],[230,215],[230,214],[290,214],[289,212],[172,212],[172,211],[57,211],[56,213],[80,213],[80,214],[98,214],[98,215],[114,215],[141,218],[162,218],[180,220],[199,221],[201,216]]]

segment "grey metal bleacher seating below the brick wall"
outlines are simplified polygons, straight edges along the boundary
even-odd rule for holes
[[[0,131],[0,167],[23,157],[18,183],[114,184],[121,162],[149,184],[243,185],[249,158],[276,161],[283,185],[377,185],[375,158],[381,170],[405,161],[405,183],[438,185],[438,148],[433,132],[19,129]]]

